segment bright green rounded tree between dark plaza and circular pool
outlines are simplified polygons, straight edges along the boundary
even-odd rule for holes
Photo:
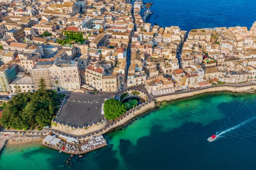
[[[103,110],[105,117],[109,120],[113,120],[124,114],[126,107],[123,103],[121,103],[121,101],[109,99],[105,101]]]

